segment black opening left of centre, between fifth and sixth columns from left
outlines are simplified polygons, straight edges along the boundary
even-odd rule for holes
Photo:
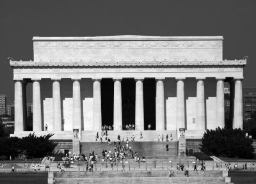
[[[101,116],[102,125],[113,125],[114,82],[113,79],[101,81]]]

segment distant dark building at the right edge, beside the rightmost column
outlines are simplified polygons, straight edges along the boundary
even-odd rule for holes
[[[243,88],[243,118],[251,118],[256,111],[256,88]]]

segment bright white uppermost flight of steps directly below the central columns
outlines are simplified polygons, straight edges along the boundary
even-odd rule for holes
[[[140,139],[140,132],[143,135],[143,138]],[[97,131],[82,131],[82,136],[81,136],[81,142],[95,142],[95,136],[97,134]],[[169,136],[169,141],[170,141],[170,135],[172,134],[173,141],[177,141],[177,134],[175,130],[113,130],[113,131],[108,131],[108,139],[111,140],[111,142],[117,141],[117,136],[120,135],[121,140],[124,138],[125,141],[128,137],[129,141],[131,141],[132,135],[135,137],[135,141],[140,141],[140,142],[152,142],[152,141],[158,141],[158,135],[164,135],[164,141],[166,138],[166,135],[168,134]],[[99,131],[99,138],[101,136],[101,131]],[[106,136],[103,136],[102,139],[104,142]],[[98,140],[99,141],[99,140]]]

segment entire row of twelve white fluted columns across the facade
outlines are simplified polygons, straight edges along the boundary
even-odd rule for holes
[[[60,79],[52,79],[52,128],[61,131]],[[81,130],[81,79],[73,82],[73,129]],[[177,130],[185,128],[184,80],[177,78]],[[114,81],[114,130],[122,130],[122,79]],[[136,81],[136,130],[144,130],[143,78]],[[101,79],[93,79],[93,130],[101,130]],[[15,81],[15,131],[24,131],[24,96],[26,87],[23,81]],[[241,79],[234,79],[234,119],[233,128],[243,128],[243,98]],[[205,130],[204,79],[196,84],[196,130]],[[225,127],[224,79],[216,84],[216,127]],[[164,124],[164,78],[156,79],[156,130],[165,130]],[[33,131],[42,131],[40,80],[33,80]]]

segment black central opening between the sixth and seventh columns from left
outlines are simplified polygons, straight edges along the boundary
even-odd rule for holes
[[[125,125],[135,125],[135,81],[134,79],[122,80],[122,121]]]

